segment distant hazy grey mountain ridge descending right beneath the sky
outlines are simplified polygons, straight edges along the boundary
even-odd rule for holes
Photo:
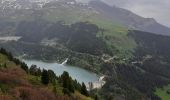
[[[118,20],[130,29],[141,30],[160,35],[170,35],[170,28],[159,24],[153,18],[143,18],[126,9],[118,8],[116,6],[112,7],[99,0],[92,0],[89,2],[89,5],[100,14],[104,15],[106,18],[110,20]]]

